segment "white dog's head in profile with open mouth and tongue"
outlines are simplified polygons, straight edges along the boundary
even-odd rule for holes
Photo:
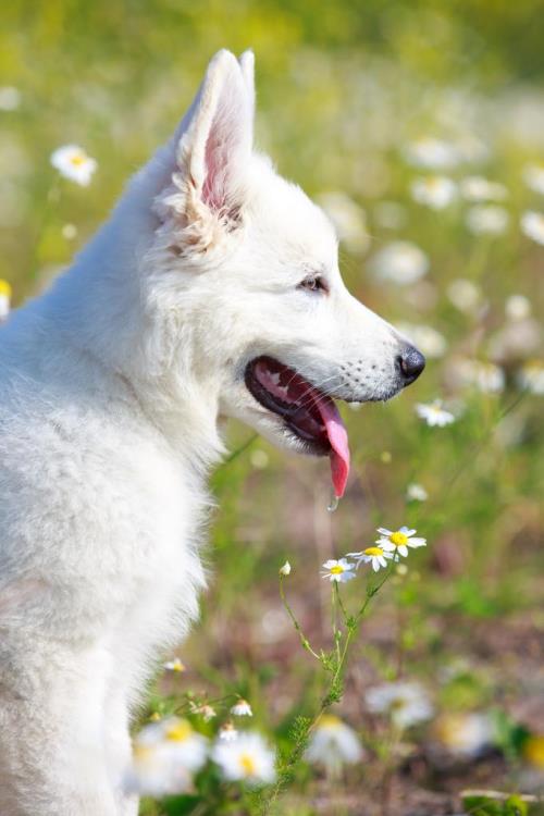
[[[181,376],[273,443],[331,455],[339,495],[348,449],[333,398],[388,399],[424,358],[350,296],[325,214],[254,151],[252,66],[250,52],[218,53],[156,159],[153,297],[166,298]]]

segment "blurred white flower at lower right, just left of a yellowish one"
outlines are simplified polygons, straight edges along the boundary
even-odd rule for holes
[[[420,683],[382,683],[369,689],[364,695],[367,707],[373,714],[388,714],[398,728],[409,728],[430,719],[433,707]]]

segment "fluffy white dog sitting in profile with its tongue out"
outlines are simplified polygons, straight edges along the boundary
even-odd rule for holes
[[[206,479],[237,417],[349,466],[332,396],[424,360],[344,287],[323,214],[252,151],[252,54],[0,333],[0,814],[129,816],[128,724],[197,615]]]

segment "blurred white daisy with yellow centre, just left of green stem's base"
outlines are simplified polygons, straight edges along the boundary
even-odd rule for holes
[[[274,752],[258,733],[240,733],[232,742],[218,740],[211,757],[227,781],[257,787],[275,779]]]

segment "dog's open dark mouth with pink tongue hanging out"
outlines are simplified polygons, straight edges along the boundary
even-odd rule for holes
[[[330,457],[334,493],[338,498],[343,496],[349,474],[349,447],[334,400],[272,357],[251,360],[245,381],[255,399],[281,417],[308,453]]]

